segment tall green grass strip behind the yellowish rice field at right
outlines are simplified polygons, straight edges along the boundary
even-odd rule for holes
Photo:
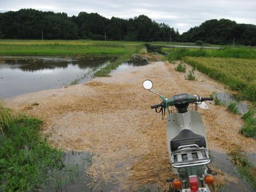
[[[184,57],[214,57],[256,59],[256,49],[246,47],[224,47],[219,50],[172,48],[168,60],[180,60]]]

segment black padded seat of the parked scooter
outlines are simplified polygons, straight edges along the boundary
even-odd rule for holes
[[[170,140],[170,150],[175,151],[180,146],[198,145],[198,147],[206,147],[205,138],[202,135],[193,133],[191,130],[182,130],[175,138]]]

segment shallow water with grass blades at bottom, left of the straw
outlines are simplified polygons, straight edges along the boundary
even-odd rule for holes
[[[101,183],[98,185],[86,173],[92,164],[93,156],[94,154],[88,152],[69,151],[65,153],[65,167],[49,173],[51,179],[43,191],[113,191],[117,188],[117,184]]]

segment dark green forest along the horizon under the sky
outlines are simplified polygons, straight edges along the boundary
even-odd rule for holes
[[[94,39],[124,41],[169,41],[210,44],[256,45],[256,26],[238,24],[228,19],[212,19],[180,34],[165,23],[157,23],[146,15],[133,19],[112,17],[107,19],[98,13],[80,12],[68,17],[66,13],[21,9],[0,13],[0,38],[17,39]]]

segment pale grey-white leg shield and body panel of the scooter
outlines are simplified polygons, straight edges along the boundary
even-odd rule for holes
[[[205,127],[201,119],[201,115],[198,111],[188,111],[187,113],[173,113],[168,115],[166,121],[167,121],[167,127],[166,127],[167,146],[168,146],[170,162],[172,162],[172,156],[171,156],[172,152],[170,151],[170,140],[175,138],[181,132],[181,130],[189,129],[193,133],[202,135],[203,137],[205,137],[205,141],[207,143]],[[173,167],[172,169],[174,173],[178,174],[176,168]]]

